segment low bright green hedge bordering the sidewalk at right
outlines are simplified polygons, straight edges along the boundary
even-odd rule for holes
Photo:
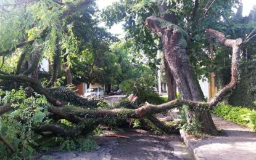
[[[220,104],[212,111],[223,119],[236,122],[256,131],[256,111],[241,106]]]

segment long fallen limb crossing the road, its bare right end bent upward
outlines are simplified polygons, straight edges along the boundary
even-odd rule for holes
[[[76,118],[96,118],[102,121],[105,118],[143,118],[152,116],[155,113],[162,113],[171,108],[180,108],[183,105],[188,106],[189,110],[207,111],[217,105],[225,95],[230,92],[237,84],[239,58],[241,52],[242,39],[226,39],[223,33],[215,30],[207,30],[207,36],[214,38],[220,44],[233,48],[232,58],[232,78],[231,82],[215,95],[209,103],[195,102],[190,100],[173,100],[171,102],[163,103],[162,105],[146,104],[137,109],[118,108],[113,110],[86,110],[85,108],[76,108],[75,106],[50,106],[48,110],[52,113],[62,115],[65,119],[70,119],[68,116],[72,115]]]

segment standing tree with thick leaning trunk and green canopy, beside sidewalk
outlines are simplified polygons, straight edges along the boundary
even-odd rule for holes
[[[207,46],[209,44],[204,39],[204,30],[210,27],[218,29],[223,26],[221,17],[231,16],[231,8],[235,4],[239,2],[120,1],[112,6],[114,9],[104,10],[104,15],[107,16],[105,19],[109,25],[117,20],[125,20],[127,38],[135,39],[138,49],[145,52],[151,50],[149,53],[154,55],[152,52],[159,48],[154,45],[156,38],[144,29],[143,19],[146,20],[146,26],[161,39],[167,75],[170,73],[169,79],[174,78],[181,98],[202,101],[204,95],[197,80],[199,75],[196,75],[195,71],[207,73],[211,66],[210,58],[204,51],[205,44]],[[150,16],[153,13],[155,15]],[[167,82],[168,86],[175,84],[171,81]],[[199,121],[203,126],[199,129],[202,132],[217,134],[209,111],[188,111],[186,116],[188,122]]]

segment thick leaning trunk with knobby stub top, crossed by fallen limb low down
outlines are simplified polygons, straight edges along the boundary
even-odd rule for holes
[[[194,101],[204,100],[204,94],[186,53],[188,33],[179,26],[154,16],[146,18],[145,23],[162,39],[163,54],[165,54],[167,65],[173,74],[181,98]],[[187,111],[186,119],[188,123],[193,119],[199,121],[203,127],[198,129],[205,134],[218,133],[209,111]]]

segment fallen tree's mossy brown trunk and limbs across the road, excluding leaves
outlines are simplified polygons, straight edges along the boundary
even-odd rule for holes
[[[74,126],[64,126],[63,124],[48,124],[47,121],[41,119],[39,123],[36,123],[32,129],[43,136],[60,136],[60,137],[76,137],[77,135],[87,135],[96,129],[99,124],[104,124],[106,121],[113,121],[113,119],[140,119],[147,118],[153,122],[157,127],[162,128],[167,133],[175,132],[173,128],[167,127],[162,122],[154,118],[155,113],[162,113],[164,111],[170,110],[172,108],[180,108],[183,105],[188,106],[188,109],[191,111],[204,112],[208,111],[228,93],[230,92],[237,84],[238,79],[238,68],[239,68],[239,58],[241,52],[242,39],[226,39],[223,33],[220,33],[215,30],[207,30],[207,36],[210,39],[215,39],[215,41],[224,44],[225,46],[233,48],[233,58],[232,58],[232,78],[231,82],[224,87],[223,89],[215,95],[214,98],[208,103],[206,102],[196,102],[191,100],[173,100],[171,102],[163,103],[162,105],[152,105],[146,103],[145,105],[136,108],[128,109],[119,108],[115,109],[99,109],[97,108],[97,103],[99,101],[90,102],[85,98],[81,98],[76,95],[73,91],[68,89],[44,89],[38,82],[34,81],[27,76],[18,76],[10,74],[0,75],[1,79],[5,79],[12,82],[20,82],[20,84],[25,84],[25,86],[30,86],[35,92],[38,92],[41,95],[46,97],[46,100],[52,105],[47,106],[47,111],[52,114],[47,114],[47,119],[65,119]],[[28,94],[29,95],[29,94]],[[6,103],[0,107],[0,116],[4,113],[10,111],[19,110],[20,104],[26,97],[20,98],[19,100],[14,100],[12,102]],[[65,100],[73,105],[68,105],[67,103],[62,103]],[[16,119],[19,119],[16,117]],[[22,121],[26,121],[22,119]],[[47,134],[46,134],[47,132]],[[50,134],[49,134],[50,133]],[[4,139],[4,137],[2,137]],[[5,141],[7,142],[7,141]],[[6,143],[8,144],[8,143]],[[9,146],[9,148],[11,148]],[[12,150],[12,148],[11,148]],[[14,151],[14,150],[12,150]]]

